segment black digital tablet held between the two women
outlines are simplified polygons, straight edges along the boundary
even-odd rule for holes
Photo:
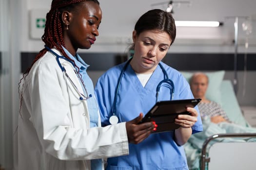
[[[177,115],[190,115],[191,113],[188,112],[186,108],[195,107],[200,101],[201,99],[185,99],[157,102],[144,116],[140,123],[155,121],[158,127],[153,133],[175,130],[179,128],[179,125],[174,122]]]

